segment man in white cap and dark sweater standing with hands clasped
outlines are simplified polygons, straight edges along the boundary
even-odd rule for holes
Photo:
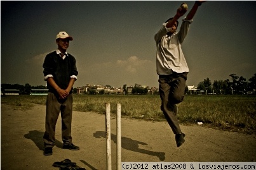
[[[46,99],[46,119],[44,141],[44,155],[52,155],[55,145],[55,127],[59,113],[62,118],[62,149],[79,150],[72,143],[72,86],[77,79],[76,59],[67,53],[69,41],[73,40],[66,32],[57,34],[58,49],[47,54],[44,63],[44,80],[49,89]]]

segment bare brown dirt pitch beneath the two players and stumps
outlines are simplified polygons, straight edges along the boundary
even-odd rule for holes
[[[45,106],[27,111],[1,104],[1,169],[56,169],[53,162],[71,159],[88,169],[106,169],[105,115],[74,111],[73,143],[81,149],[62,148],[61,121],[56,128],[53,155],[43,155]],[[123,162],[252,162],[256,135],[214,130],[203,125],[181,126],[185,143],[177,148],[166,122],[121,118]],[[112,168],[116,169],[116,119],[111,119]]]

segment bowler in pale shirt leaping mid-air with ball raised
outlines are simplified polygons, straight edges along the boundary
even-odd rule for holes
[[[161,29],[154,35],[156,41],[156,70],[159,75],[159,93],[161,97],[161,111],[175,134],[177,147],[184,142],[185,134],[182,133],[176,117],[178,108],[176,104],[183,101],[185,95],[185,81],[189,68],[182,52],[182,42],[187,35],[192,19],[202,1],[196,1],[191,11],[182,20],[179,32],[178,19],[185,14],[187,9],[181,7],[173,18],[163,23]]]

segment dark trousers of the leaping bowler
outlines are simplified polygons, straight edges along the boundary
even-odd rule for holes
[[[185,81],[187,73],[175,73],[172,75],[159,75],[159,94],[161,97],[161,111],[172,128],[174,134],[181,133],[179,121],[176,117],[176,104],[184,100]]]

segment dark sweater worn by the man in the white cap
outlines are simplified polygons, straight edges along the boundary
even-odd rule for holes
[[[47,54],[44,59],[43,68],[44,76],[53,75],[53,80],[55,80],[58,87],[62,89],[66,89],[68,87],[69,80],[72,75],[78,75],[76,59],[69,53],[65,59],[62,59],[56,51]],[[47,88],[49,89],[49,92],[56,92],[49,83],[47,83]]]

